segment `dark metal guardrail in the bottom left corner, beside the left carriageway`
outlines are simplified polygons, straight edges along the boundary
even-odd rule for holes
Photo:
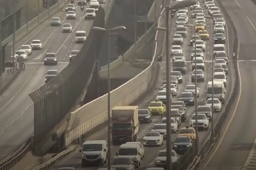
[[[29,139],[24,145],[22,145],[15,154],[9,156],[7,159],[0,163],[0,170],[9,170],[14,167],[30,150],[31,140]]]

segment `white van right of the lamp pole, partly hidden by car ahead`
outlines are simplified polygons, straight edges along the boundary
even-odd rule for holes
[[[138,145],[129,144],[129,143],[122,144],[119,147],[119,151],[118,153],[116,153],[116,155],[129,156],[135,163],[135,167],[139,168],[141,156],[140,156],[140,148]]]

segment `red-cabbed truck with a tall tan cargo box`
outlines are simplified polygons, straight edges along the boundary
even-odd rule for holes
[[[136,141],[140,128],[138,106],[114,107],[111,128],[113,145]]]

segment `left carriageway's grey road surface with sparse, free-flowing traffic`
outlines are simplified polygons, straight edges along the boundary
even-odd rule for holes
[[[61,18],[62,24],[72,25],[72,33],[62,33],[61,26],[51,27],[49,20],[16,45],[16,48],[19,48],[23,44],[30,44],[33,39],[40,39],[44,43],[42,50],[33,50],[32,55],[28,56],[25,71],[0,97],[0,160],[15,152],[33,134],[33,102],[28,94],[44,84],[47,70],[61,71],[69,63],[70,51],[80,50],[83,46],[83,44],[75,44],[75,32],[85,30],[88,34],[93,20],[85,20],[84,11],[80,10],[76,2],[75,5],[74,20],[66,20],[65,11],[56,14]],[[101,6],[104,7],[105,4]],[[88,5],[86,7],[88,8]],[[46,53],[56,53],[58,65],[44,66],[43,57]]]

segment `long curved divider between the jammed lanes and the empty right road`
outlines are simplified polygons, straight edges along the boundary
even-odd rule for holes
[[[239,39],[238,39],[238,35],[237,35],[237,30],[235,28],[235,25],[233,24],[233,21],[231,20],[228,12],[226,11],[226,9],[223,7],[222,2],[220,0],[216,0],[219,8],[221,9],[221,11],[223,11],[224,16],[226,16],[226,21],[228,21],[232,27],[233,27],[233,31],[234,31],[234,41],[233,41],[233,64],[235,67],[235,85],[233,87],[233,91],[232,94],[230,96],[230,99],[228,100],[228,103],[226,105],[226,108],[224,110],[224,112],[222,113],[221,117],[219,117],[218,122],[215,124],[214,126],[214,133],[210,133],[209,137],[207,138],[207,140],[205,141],[205,143],[202,145],[202,148],[200,149],[199,155],[197,157],[197,159],[194,159],[193,162],[191,163],[191,165],[189,166],[190,169],[189,170],[195,170],[196,168],[198,168],[198,166],[200,164],[203,163],[203,161],[205,160],[207,154],[211,151],[213,145],[217,142],[217,140],[219,139],[220,135],[221,135],[221,130],[223,125],[226,122],[226,118],[228,117],[229,111],[231,110],[231,107],[233,106],[235,100],[237,99],[237,95],[238,95],[238,91],[240,89],[240,79],[238,78],[239,76],[239,68],[237,66],[237,56],[238,56],[238,51],[239,51]]]

